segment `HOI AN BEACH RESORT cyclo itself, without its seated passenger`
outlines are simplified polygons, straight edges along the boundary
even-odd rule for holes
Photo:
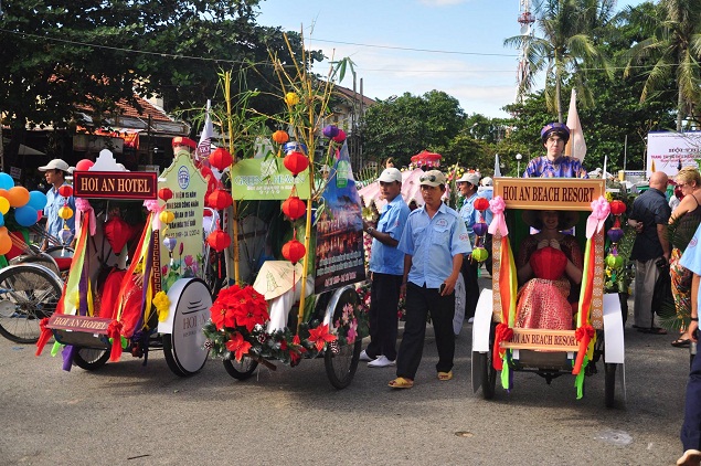
[[[584,392],[585,374],[595,373],[595,364],[603,358],[606,405],[612,406],[615,401],[616,372],[625,400],[620,303],[618,295],[604,294],[604,223],[612,211],[604,194],[604,180],[495,179],[495,199],[490,203],[493,221],[489,227],[493,233],[492,289],[480,295],[472,327],[472,390],[481,388],[485,399],[495,396],[498,375],[501,385],[511,390],[516,386],[514,373],[522,371],[535,372],[548,383],[572,374],[578,399]],[[574,313],[566,329],[519,326],[524,321],[521,313],[527,311],[522,303],[527,293],[519,290],[519,285],[523,285],[518,283],[514,263],[519,250],[512,247],[523,247],[532,233],[524,216],[534,211],[578,214],[574,227],[565,232],[574,236],[583,252],[580,293],[574,303],[565,303],[573,305]],[[622,212],[614,209],[614,213]],[[555,255],[541,254],[535,265],[531,256],[537,278],[554,280],[563,276],[564,266]],[[556,292],[550,288],[548,293]]]

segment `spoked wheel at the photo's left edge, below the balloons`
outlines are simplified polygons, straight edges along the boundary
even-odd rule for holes
[[[40,322],[61,299],[63,285],[49,268],[18,264],[0,271],[0,335],[17,343],[35,343]]]

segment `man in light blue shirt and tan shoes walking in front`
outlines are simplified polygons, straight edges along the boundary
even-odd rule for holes
[[[463,255],[471,251],[465,222],[443,203],[446,178],[431,170],[418,179],[424,206],[408,215],[399,248],[404,253],[406,322],[396,361],[393,389],[414,385],[431,313],[434,327],[439,380],[453,379],[455,356],[455,284],[460,274]]]

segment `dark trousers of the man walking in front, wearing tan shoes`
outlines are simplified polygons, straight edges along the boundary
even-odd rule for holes
[[[438,349],[436,371],[448,372],[453,369],[455,293],[440,296],[437,288],[421,287],[410,282],[406,285],[406,321],[396,360],[396,377],[414,379],[416,375],[424,350],[428,313],[431,313],[436,348]]]

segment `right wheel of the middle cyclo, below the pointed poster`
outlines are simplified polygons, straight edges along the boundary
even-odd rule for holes
[[[333,292],[333,295],[329,301],[327,310],[332,311],[330,326],[339,321],[343,316],[343,307],[351,305],[354,308],[360,303],[360,297],[355,289],[351,286]],[[333,332],[338,332],[338,328],[333,329]],[[338,335],[338,333],[337,333]],[[327,346],[323,352],[323,366],[326,367],[326,374],[329,378],[329,382],[337,389],[347,388],[355,375],[358,369],[358,361],[360,361],[360,350],[362,348],[362,339],[355,338],[355,341],[349,345],[333,345]]]

